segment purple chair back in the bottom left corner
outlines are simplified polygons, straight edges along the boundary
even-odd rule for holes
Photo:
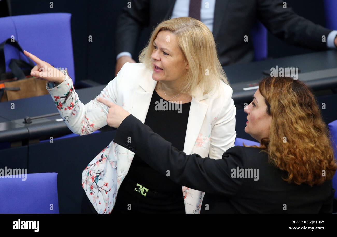
[[[0,213],[59,213],[57,173],[0,178]],[[51,209],[53,204],[53,210]]]

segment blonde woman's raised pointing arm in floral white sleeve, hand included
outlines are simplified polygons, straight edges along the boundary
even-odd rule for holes
[[[96,98],[83,104],[75,92],[71,78],[65,71],[62,73],[27,51],[24,53],[37,64],[32,69],[31,75],[47,81],[46,89],[70,131],[79,135],[87,135],[106,125],[109,108],[98,102],[97,98],[104,98],[111,103],[118,104],[118,87],[128,63]]]

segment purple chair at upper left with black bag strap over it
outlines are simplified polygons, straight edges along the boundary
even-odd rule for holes
[[[75,84],[74,59],[70,30],[70,13],[43,13],[17,15],[0,18],[0,42],[13,38],[22,49],[31,52],[55,67],[68,69],[69,76]],[[42,34],[36,36],[36,29]],[[5,47],[6,71],[10,71],[10,59],[23,59],[11,45]]]

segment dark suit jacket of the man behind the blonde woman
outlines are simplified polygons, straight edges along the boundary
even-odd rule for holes
[[[131,8],[123,8],[116,29],[116,54],[127,51],[134,55],[135,45],[143,28],[154,29],[167,20],[176,0],[133,0]],[[252,26],[260,20],[278,38],[290,44],[312,49],[326,49],[322,42],[331,30],[316,25],[297,15],[283,0],[216,0],[213,36],[217,44],[219,61],[224,65],[246,63],[253,60],[250,40]],[[244,36],[248,42],[244,42]],[[136,52],[137,54],[139,52]]]

